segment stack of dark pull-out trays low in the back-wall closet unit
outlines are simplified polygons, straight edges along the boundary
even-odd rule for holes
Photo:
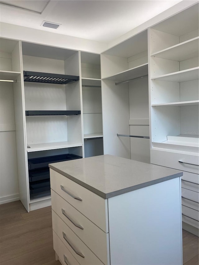
[[[49,163],[82,158],[74,154],[64,154],[28,159],[30,197],[50,192]]]

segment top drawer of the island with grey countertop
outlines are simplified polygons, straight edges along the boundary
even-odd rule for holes
[[[109,232],[107,199],[99,197],[52,169],[50,169],[50,185],[52,190],[85,215],[90,221],[94,222],[104,232]],[[72,196],[80,198],[81,201],[74,199],[67,192]]]

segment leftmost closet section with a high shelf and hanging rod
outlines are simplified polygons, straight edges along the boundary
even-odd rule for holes
[[[16,140],[17,91],[21,91],[20,42],[0,38],[0,203],[19,198]]]

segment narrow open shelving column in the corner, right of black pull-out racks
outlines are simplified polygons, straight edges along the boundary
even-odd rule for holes
[[[81,52],[84,156],[103,155],[100,55]]]

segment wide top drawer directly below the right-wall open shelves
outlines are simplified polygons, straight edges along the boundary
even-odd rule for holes
[[[174,153],[164,150],[151,149],[150,159],[151,159],[150,160],[151,164],[199,174],[199,166],[198,166],[199,157],[197,155],[189,155],[183,153]]]

